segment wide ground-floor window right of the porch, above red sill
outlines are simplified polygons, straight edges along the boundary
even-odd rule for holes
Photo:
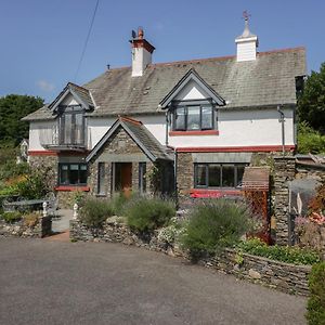
[[[247,164],[195,164],[195,187],[236,187]]]

